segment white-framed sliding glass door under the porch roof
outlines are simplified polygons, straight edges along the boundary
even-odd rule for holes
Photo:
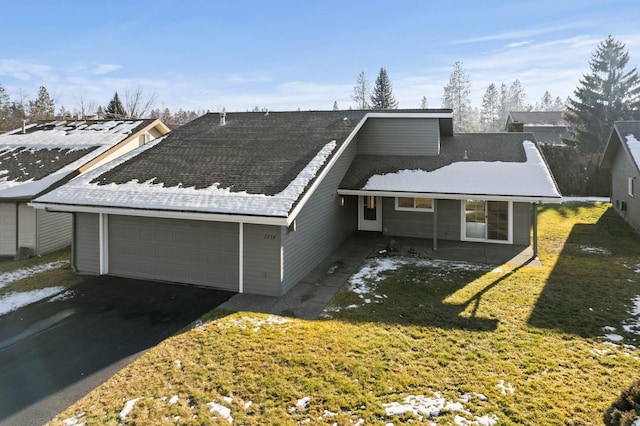
[[[466,200],[462,204],[462,239],[511,243],[511,202]]]

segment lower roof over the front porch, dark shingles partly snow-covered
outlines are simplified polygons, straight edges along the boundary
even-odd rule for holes
[[[533,135],[528,133],[443,137],[437,156],[357,156],[340,192],[404,192],[442,198],[465,194],[526,201],[561,198]]]

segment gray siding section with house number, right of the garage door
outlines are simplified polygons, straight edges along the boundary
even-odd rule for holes
[[[243,291],[280,295],[282,282],[281,235],[279,226],[243,225]]]

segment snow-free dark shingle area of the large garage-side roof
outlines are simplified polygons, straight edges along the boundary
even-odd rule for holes
[[[342,144],[364,111],[206,114],[161,143],[96,177],[274,195],[284,190],[328,142]]]

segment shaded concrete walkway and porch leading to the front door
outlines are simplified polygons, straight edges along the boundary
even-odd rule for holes
[[[388,250],[392,239],[395,242],[393,252]],[[219,308],[309,320],[317,319],[349,277],[358,271],[368,257],[372,256],[408,256],[490,265],[540,265],[537,258],[532,258],[533,249],[525,246],[438,241],[438,249],[434,251],[432,248],[432,240],[356,232],[284,296],[236,294]]]

